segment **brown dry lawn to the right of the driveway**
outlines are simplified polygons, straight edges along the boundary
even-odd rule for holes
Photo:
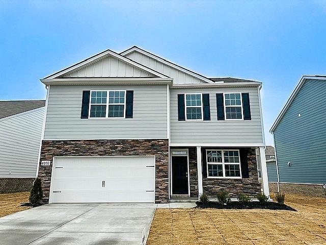
[[[285,199],[297,212],[157,209],[147,244],[326,244],[326,199]]]

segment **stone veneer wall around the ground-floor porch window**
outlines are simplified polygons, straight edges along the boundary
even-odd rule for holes
[[[203,192],[206,193],[208,197],[216,197],[216,194],[222,189],[228,191],[232,198],[236,198],[240,193],[245,193],[250,197],[255,197],[258,193],[261,193],[261,184],[258,182],[256,151],[255,148],[250,148],[247,150],[249,178],[210,179],[203,175]],[[206,149],[202,148],[202,151],[206,152]],[[205,156],[205,154],[202,154],[202,156]],[[206,164],[206,157],[202,157],[202,161],[203,164]],[[206,171],[206,167],[204,166],[203,171]]]

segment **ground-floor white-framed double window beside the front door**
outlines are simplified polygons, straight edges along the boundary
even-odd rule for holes
[[[239,150],[206,150],[208,178],[241,178]]]

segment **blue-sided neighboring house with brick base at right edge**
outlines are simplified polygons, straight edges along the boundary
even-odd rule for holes
[[[271,127],[280,191],[325,196],[326,76],[303,76]]]

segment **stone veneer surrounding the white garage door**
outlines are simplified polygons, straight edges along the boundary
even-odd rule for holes
[[[56,156],[155,156],[155,203],[169,202],[168,139],[137,140],[43,140],[41,161],[50,166],[39,167],[43,201],[48,202],[53,157]],[[40,163],[39,163],[40,164]]]

